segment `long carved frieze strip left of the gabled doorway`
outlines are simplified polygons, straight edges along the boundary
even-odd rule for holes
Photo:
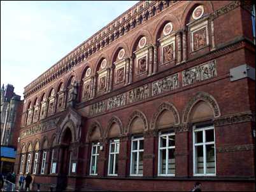
[[[39,123],[39,125],[36,125],[34,127],[31,128],[27,128],[26,130],[24,130],[23,132],[21,132],[20,134],[20,138],[24,138],[24,137],[28,137],[34,134],[38,134],[39,132],[43,132],[45,130],[49,130],[51,128],[54,128],[57,126],[57,123],[59,122],[60,117],[54,118],[52,120],[49,121],[45,121],[42,123]]]

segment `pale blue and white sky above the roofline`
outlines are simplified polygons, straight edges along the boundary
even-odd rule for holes
[[[138,1],[1,1],[1,86],[24,87]]]

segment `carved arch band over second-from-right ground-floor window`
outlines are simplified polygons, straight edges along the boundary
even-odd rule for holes
[[[151,122],[151,130],[157,127],[157,121],[159,120],[159,116],[164,113],[164,111],[169,111],[173,114],[173,123],[169,123],[170,125],[179,125],[180,124],[180,115],[178,110],[171,102],[162,102],[160,106],[157,108],[157,112],[153,114],[152,122]]]

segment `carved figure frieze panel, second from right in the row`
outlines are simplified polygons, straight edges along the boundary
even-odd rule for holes
[[[158,81],[154,81],[152,83],[152,96],[159,95],[160,93],[170,92],[178,87],[178,73],[176,73]]]

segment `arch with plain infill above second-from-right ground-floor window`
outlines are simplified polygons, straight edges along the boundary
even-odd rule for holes
[[[167,112],[167,113],[166,113]],[[171,115],[171,116],[170,116]],[[167,126],[179,125],[180,124],[180,115],[178,110],[171,102],[162,102],[157,108],[157,112],[153,114],[151,129],[155,129],[159,123],[159,118],[166,119]]]

